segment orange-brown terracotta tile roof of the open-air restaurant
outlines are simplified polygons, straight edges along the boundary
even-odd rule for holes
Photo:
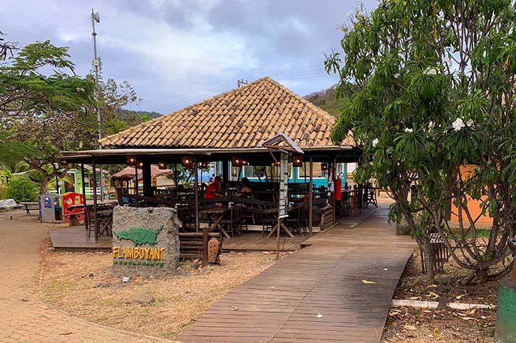
[[[335,118],[270,77],[100,140],[103,147],[256,147],[284,133],[301,148],[335,145]],[[354,145],[351,137],[342,145]]]

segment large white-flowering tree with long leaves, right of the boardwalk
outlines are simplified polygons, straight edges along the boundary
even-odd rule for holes
[[[404,219],[427,262],[439,232],[464,283],[497,280],[510,269],[516,233],[515,1],[382,0],[358,8],[341,47],[326,56],[338,88],[358,87],[332,134],[363,146],[356,179],[390,189],[390,219]],[[464,165],[475,167],[464,173]],[[410,196],[409,196],[410,195]],[[478,239],[469,199],[492,218]],[[458,224],[450,221],[455,205]]]

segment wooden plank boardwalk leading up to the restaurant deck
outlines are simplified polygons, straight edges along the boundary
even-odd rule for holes
[[[414,248],[409,237],[395,235],[386,214],[383,205],[361,223],[315,235],[312,246],[229,291],[180,339],[379,342]]]

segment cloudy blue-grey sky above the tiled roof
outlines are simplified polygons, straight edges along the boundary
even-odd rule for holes
[[[362,1],[370,10],[375,0]],[[270,76],[299,95],[331,87],[324,52],[338,49],[354,0],[2,0],[0,31],[26,45],[69,47],[75,72],[91,69],[91,8],[103,77],[128,81],[142,102],[169,113]]]

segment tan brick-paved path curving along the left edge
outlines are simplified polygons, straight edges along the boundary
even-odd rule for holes
[[[33,289],[46,237],[45,225],[0,216],[0,342],[160,341],[71,317],[36,301]]]

